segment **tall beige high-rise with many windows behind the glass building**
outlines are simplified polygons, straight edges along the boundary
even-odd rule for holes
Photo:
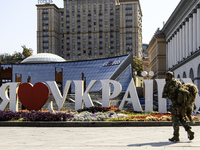
[[[142,58],[139,0],[64,0],[37,6],[37,52],[67,60],[132,53]]]

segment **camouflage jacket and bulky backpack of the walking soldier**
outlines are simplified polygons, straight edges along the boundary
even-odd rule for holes
[[[169,98],[172,101],[172,113],[182,115],[192,120],[193,104],[198,93],[198,88],[191,83],[182,84],[180,81],[172,78],[167,81],[163,89],[163,98]]]

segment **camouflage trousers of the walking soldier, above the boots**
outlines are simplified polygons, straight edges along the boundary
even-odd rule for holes
[[[188,131],[191,129],[189,124],[186,122],[186,117],[182,115],[173,115],[172,114],[172,125],[174,128],[174,136],[179,136],[179,122],[183,125],[185,128],[185,131]]]

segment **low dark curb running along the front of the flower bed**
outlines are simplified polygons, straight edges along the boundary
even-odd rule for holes
[[[200,121],[191,126],[200,126]],[[0,127],[151,127],[172,126],[171,121],[95,121],[95,122],[67,122],[67,121],[0,121]]]

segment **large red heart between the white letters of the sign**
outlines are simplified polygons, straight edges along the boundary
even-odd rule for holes
[[[37,111],[42,108],[49,98],[49,94],[49,88],[42,82],[38,82],[34,86],[31,83],[23,83],[18,90],[20,102],[29,111]]]

